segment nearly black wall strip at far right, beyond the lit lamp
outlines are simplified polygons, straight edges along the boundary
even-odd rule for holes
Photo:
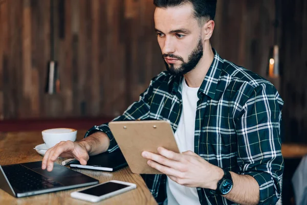
[[[307,144],[307,1],[281,2],[284,134]]]

